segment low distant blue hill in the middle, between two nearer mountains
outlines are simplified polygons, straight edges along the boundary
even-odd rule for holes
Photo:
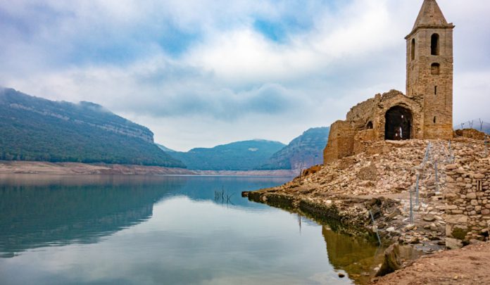
[[[213,148],[171,152],[191,170],[255,170],[285,145],[279,141],[238,141]]]

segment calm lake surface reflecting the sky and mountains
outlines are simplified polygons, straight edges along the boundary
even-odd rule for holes
[[[368,280],[376,246],[241,198],[289,180],[0,175],[0,284]]]

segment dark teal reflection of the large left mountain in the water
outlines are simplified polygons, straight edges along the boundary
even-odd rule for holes
[[[153,203],[178,190],[182,179],[151,177],[54,178],[33,185],[37,176],[2,179],[0,252],[71,242],[91,243],[100,236],[142,222]]]

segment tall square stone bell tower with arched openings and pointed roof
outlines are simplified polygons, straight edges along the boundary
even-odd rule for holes
[[[422,105],[424,139],[453,137],[453,28],[424,0],[407,40],[406,95]]]

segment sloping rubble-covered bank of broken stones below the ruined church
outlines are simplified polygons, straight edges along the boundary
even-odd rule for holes
[[[483,141],[375,141],[364,148],[282,186],[250,192],[249,198],[337,220],[371,237],[377,231],[385,244],[411,245],[425,253],[445,250],[446,166],[484,156]]]

